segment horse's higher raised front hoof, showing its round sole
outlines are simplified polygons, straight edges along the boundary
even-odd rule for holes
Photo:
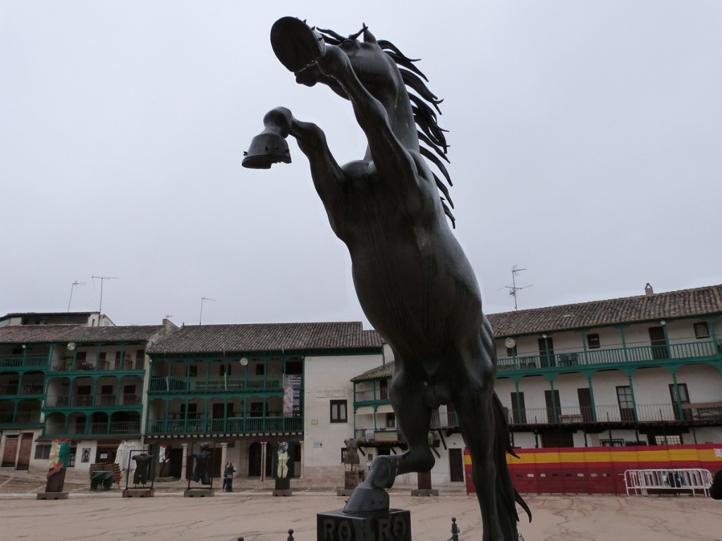
[[[326,43],[302,20],[282,17],[271,27],[271,47],[286,69],[295,73],[321,58]]]

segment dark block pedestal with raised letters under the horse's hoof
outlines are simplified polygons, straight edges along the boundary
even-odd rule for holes
[[[411,541],[411,512],[389,509],[347,514],[342,509],[316,515],[317,541]]]

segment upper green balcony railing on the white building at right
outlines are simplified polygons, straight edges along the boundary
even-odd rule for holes
[[[720,353],[722,353],[722,342],[719,340],[671,343],[666,346],[633,346],[591,349],[588,351],[565,351],[564,353],[499,357],[497,359],[497,372],[653,362],[666,359],[700,359],[719,356]]]

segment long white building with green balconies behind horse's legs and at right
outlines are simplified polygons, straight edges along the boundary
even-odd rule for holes
[[[521,448],[722,443],[722,286],[487,316],[496,392]],[[393,364],[352,378],[368,454],[404,449]],[[463,482],[453,404],[432,415],[433,483]]]

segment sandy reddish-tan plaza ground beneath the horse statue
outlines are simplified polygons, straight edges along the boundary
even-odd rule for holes
[[[185,483],[156,483],[153,498],[121,498],[121,491],[90,493],[81,479],[66,480],[69,499],[38,501],[41,475],[0,470],[0,539],[30,541],[316,540],[316,513],[340,509],[344,498],[305,488],[274,498],[266,485],[239,483],[212,498],[183,498]],[[272,485],[269,485],[272,486]],[[394,489],[391,506],[412,513],[417,541],[446,541],[451,516],[460,540],[481,540],[477,501],[460,493],[412,498]],[[534,522],[522,519],[526,541],[720,541],[722,501],[690,496],[527,496]]]

